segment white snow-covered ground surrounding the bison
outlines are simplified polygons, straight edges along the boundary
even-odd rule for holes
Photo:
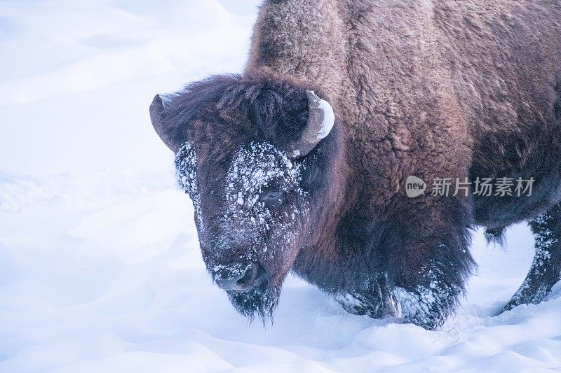
[[[0,2],[0,371],[560,368],[560,285],[492,316],[529,269],[525,226],[507,251],[475,235],[478,276],[437,332],[351,316],[295,278],[264,329],[212,285],[148,106],[240,71],[258,2]]]

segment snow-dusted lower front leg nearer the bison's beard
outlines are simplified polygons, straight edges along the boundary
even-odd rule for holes
[[[337,298],[349,314],[384,318],[397,316],[396,298],[391,293],[384,276],[371,281],[365,289],[353,290]]]

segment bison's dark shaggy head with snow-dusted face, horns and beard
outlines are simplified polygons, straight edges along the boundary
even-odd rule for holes
[[[205,265],[249,318],[272,316],[330,184],[334,113],[306,88],[216,76],[156,96],[150,108],[194,202]]]

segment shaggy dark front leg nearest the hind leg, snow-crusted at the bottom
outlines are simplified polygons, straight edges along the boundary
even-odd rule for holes
[[[469,209],[460,199],[442,198],[400,218],[403,246],[389,269],[401,316],[429,330],[454,312],[473,267]]]

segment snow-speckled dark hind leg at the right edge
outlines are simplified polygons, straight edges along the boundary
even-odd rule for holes
[[[561,280],[561,204],[529,223],[534,233],[536,254],[522,286],[500,312],[520,304],[538,304]]]

